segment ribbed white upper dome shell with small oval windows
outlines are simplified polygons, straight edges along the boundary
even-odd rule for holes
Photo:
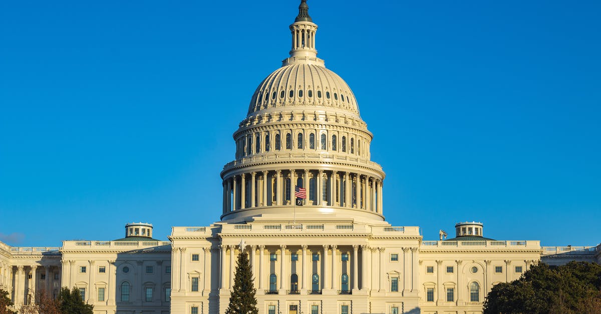
[[[359,107],[349,85],[340,76],[319,64],[288,63],[259,84],[252,96],[248,115],[279,111],[281,107],[323,107],[359,117]]]

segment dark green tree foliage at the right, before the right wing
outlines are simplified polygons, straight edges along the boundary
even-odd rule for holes
[[[484,314],[497,313],[601,313],[601,265],[538,263],[520,279],[491,289]]]

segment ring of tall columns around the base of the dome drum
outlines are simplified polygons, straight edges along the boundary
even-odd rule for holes
[[[307,184],[311,179],[310,174],[316,179],[314,187]],[[223,212],[225,214],[245,208],[281,206],[284,199],[294,202],[293,186],[296,185],[299,176],[302,179],[302,187],[307,189],[307,197],[311,194],[312,188],[316,189],[313,191],[314,200],[307,199],[305,203],[307,205],[342,206],[382,214],[382,180],[349,171],[311,171],[308,169],[302,170],[300,174],[294,169],[287,171],[278,169],[253,171],[226,178],[223,181]],[[247,179],[249,183],[246,182]],[[284,184],[282,184],[284,179],[290,179],[290,187],[287,191],[289,194],[285,195],[285,198]],[[323,179],[326,179],[325,182],[328,184],[325,198],[323,197]],[[268,186],[267,183],[270,185]]]

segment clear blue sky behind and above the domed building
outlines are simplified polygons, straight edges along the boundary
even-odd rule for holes
[[[219,220],[219,171],[297,0],[1,1],[0,240]],[[601,241],[601,2],[308,1],[384,214],[424,239]]]

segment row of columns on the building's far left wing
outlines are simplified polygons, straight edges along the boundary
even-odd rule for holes
[[[43,267],[43,269],[41,269]],[[13,272],[13,266],[4,264],[0,267],[0,283],[2,286],[8,288],[8,291],[14,290],[14,304],[24,304],[25,298],[31,298],[34,301],[36,297],[36,291],[38,289],[38,269],[45,272],[43,286],[39,287],[46,291],[46,294],[50,296],[52,292],[53,282],[53,265],[17,265],[16,271]],[[26,269],[29,268],[29,269]],[[57,266],[60,272],[60,267]],[[31,279],[29,279],[31,274]],[[14,286],[13,286],[13,275],[14,275]],[[41,279],[40,279],[41,280]],[[13,289],[14,288],[14,289]]]

